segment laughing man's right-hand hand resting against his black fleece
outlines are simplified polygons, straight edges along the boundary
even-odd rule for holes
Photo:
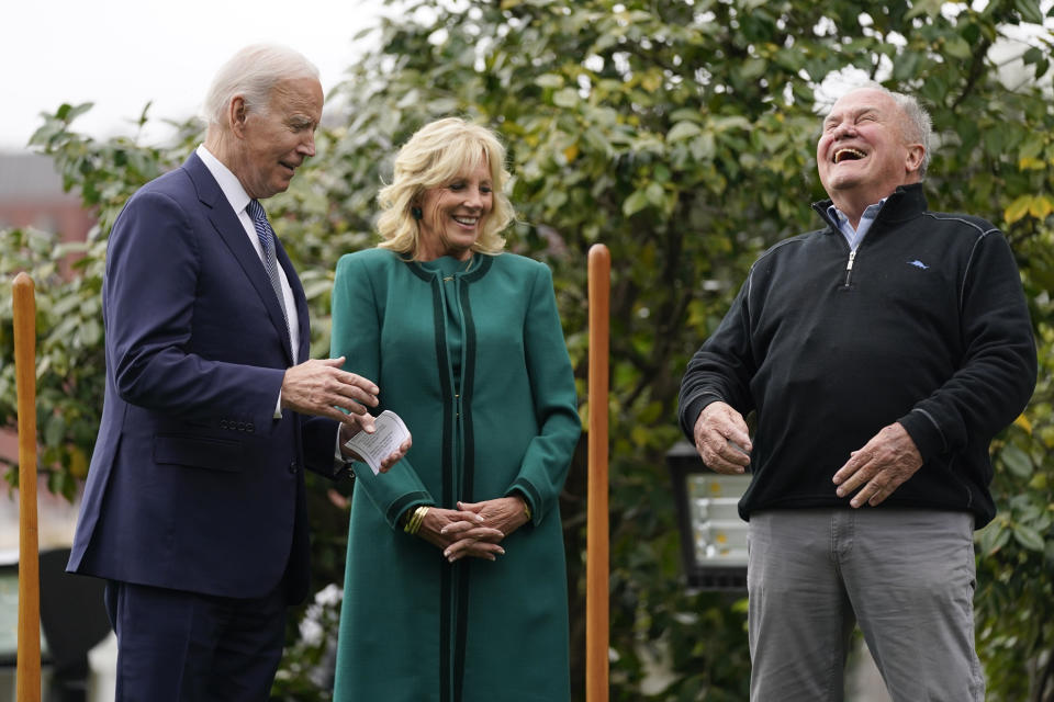
[[[852,507],[865,503],[874,507],[893,495],[921,466],[922,456],[915,441],[900,423],[893,423],[875,434],[862,449],[853,451],[845,465],[834,474],[833,480],[839,497],[845,497],[863,486],[850,500]]]

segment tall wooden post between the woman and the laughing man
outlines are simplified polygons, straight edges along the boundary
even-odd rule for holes
[[[612,257],[590,248],[588,521],[585,565],[585,700],[608,700],[607,386]]]

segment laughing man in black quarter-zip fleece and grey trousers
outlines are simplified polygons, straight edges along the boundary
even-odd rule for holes
[[[896,702],[984,700],[973,531],[995,514],[988,444],[1032,394],[1035,344],[1002,234],[927,208],[930,132],[876,84],[834,103],[825,228],[758,259],[682,382],[703,461],[753,474],[752,702],[842,700],[856,622]]]

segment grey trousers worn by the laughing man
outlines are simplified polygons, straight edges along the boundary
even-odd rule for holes
[[[840,702],[859,622],[895,702],[983,702],[974,518],[864,507],[751,514],[751,702]]]

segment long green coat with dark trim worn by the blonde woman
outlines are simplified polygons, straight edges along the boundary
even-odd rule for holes
[[[334,699],[567,701],[558,497],[581,420],[552,275],[502,253],[445,280],[428,270],[444,261],[457,265],[370,249],[337,264],[333,356],[377,382],[378,411],[402,417],[414,444],[386,474],[356,464]],[[495,562],[451,565],[396,525],[418,505],[513,492],[532,518]]]

